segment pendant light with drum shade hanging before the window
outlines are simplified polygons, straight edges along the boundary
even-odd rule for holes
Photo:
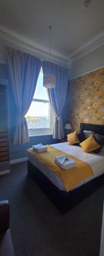
[[[49,26],[49,47],[50,47],[50,53],[49,53],[49,72],[50,72],[50,62],[51,62],[51,29],[52,27]],[[45,74],[43,76],[43,87],[45,88],[55,88],[56,87],[56,77],[52,74]]]

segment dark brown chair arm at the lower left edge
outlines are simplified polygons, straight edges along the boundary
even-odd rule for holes
[[[0,201],[0,231],[9,228],[9,202]]]

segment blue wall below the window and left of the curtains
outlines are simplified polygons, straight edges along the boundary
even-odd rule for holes
[[[7,66],[0,63],[0,78],[8,79]],[[13,134],[15,126],[16,108],[12,97],[10,86],[8,86],[9,94],[9,127],[10,127],[10,160],[26,157],[26,149],[34,144],[42,142],[43,144],[53,144],[59,140],[53,139],[52,135],[33,136],[30,137],[29,142],[24,145],[13,145]]]

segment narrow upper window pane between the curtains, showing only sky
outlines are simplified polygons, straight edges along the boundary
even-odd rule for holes
[[[34,99],[48,99],[47,90],[43,87],[43,72],[41,70],[37,81],[36,91],[33,96]]]

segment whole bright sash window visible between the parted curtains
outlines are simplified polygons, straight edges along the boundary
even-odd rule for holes
[[[43,87],[43,71],[41,69],[30,108],[25,115],[29,136],[52,134],[53,114],[50,108],[46,88]]]

